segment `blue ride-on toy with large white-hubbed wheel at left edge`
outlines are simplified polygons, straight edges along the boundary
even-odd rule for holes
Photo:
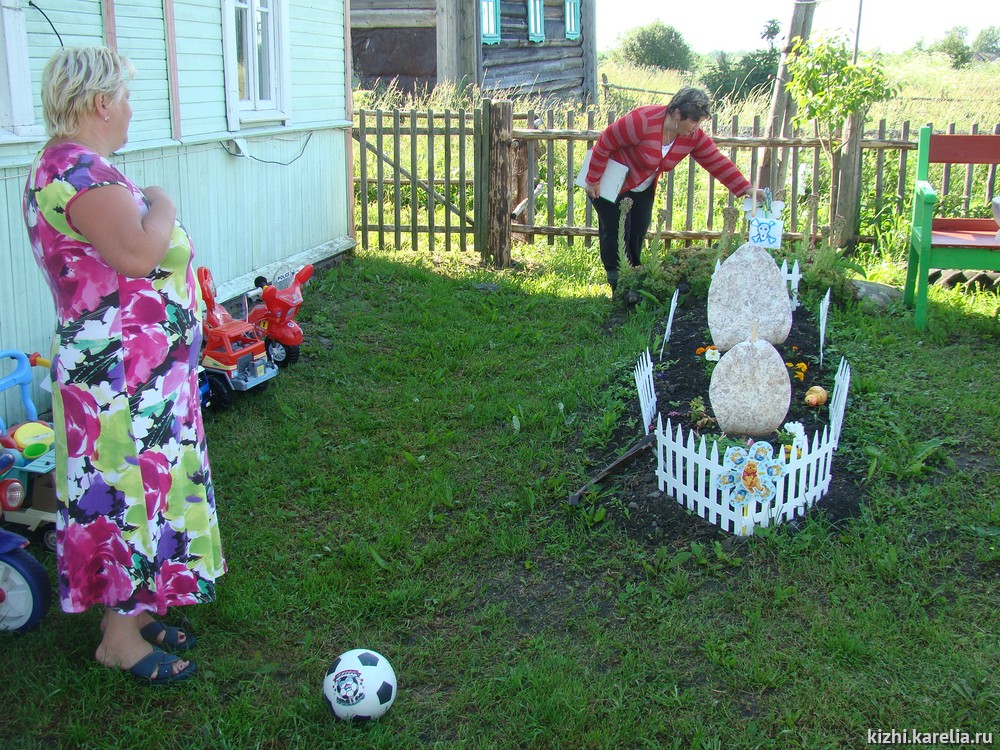
[[[13,465],[12,454],[0,455],[0,472],[10,471]],[[11,490],[6,494],[10,495]],[[6,503],[0,505],[0,519],[5,507]],[[52,604],[49,576],[25,549],[27,546],[23,536],[0,528],[0,630],[31,630]]]

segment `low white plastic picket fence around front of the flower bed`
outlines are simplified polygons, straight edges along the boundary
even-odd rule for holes
[[[660,489],[709,523],[740,536],[753,534],[757,526],[804,515],[830,489],[833,453],[840,443],[850,382],[851,368],[841,359],[830,398],[829,426],[821,435],[813,435],[808,450],[801,455],[793,450],[785,456],[781,446],[775,446],[775,455],[782,457],[782,476],[773,498],[743,508],[731,507],[727,493],[719,488],[719,477],[728,469],[722,464],[716,441],[709,443],[702,436],[696,445],[693,430],[685,435],[683,426],[674,427],[669,419],[664,427],[663,417],[658,415],[656,476]]]

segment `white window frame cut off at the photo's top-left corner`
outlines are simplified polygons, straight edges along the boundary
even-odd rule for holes
[[[28,33],[20,3],[0,2],[0,140],[44,134],[35,122],[28,66]]]

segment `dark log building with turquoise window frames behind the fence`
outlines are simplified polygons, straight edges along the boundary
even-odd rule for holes
[[[597,0],[352,0],[355,83],[597,98]]]

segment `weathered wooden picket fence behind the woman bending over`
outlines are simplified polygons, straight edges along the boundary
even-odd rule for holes
[[[515,113],[511,102],[484,100],[471,110],[367,110],[355,112],[356,229],[362,245],[465,250],[506,266],[512,239],[545,236],[593,242],[597,218],[574,185],[588,146],[618,115],[595,111]],[[764,124],[713,119],[719,147],[748,176],[757,173],[765,149],[781,150],[787,170],[784,238],[817,243],[830,238],[831,173],[816,137],[766,138]],[[912,128],[915,132],[916,128]],[[978,127],[972,128],[979,132]],[[948,126],[946,132],[955,132]],[[1000,124],[993,126],[1000,133]],[[861,140],[863,215],[908,211],[913,182],[910,123],[892,132],[883,120]],[[837,163],[834,163],[834,170]],[[996,174],[972,169],[945,180],[968,212],[971,200],[992,195]],[[947,178],[947,176],[946,176]],[[691,159],[661,179],[654,232],[666,243],[708,243],[738,225],[733,197]],[[870,223],[870,222],[869,222]],[[871,235],[849,239],[871,242]]]

